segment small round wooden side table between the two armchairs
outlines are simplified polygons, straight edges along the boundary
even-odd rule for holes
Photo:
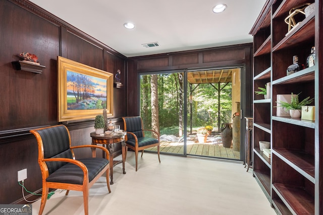
[[[122,162],[122,170],[123,174],[126,174],[125,171],[125,161],[126,161],[126,143],[124,141],[124,134],[122,133],[113,133],[113,134],[96,134],[95,132],[92,132],[90,134],[92,137],[92,145],[102,144],[106,145],[106,149],[110,152],[110,184],[114,184],[113,182],[113,167],[117,164],[120,164]],[[114,144],[121,142],[122,145],[122,160],[113,160],[113,152],[114,152]],[[95,148],[92,148],[92,157],[96,157]],[[104,158],[104,152],[103,152],[103,158]]]

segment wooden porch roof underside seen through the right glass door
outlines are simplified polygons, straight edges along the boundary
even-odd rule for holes
[[[230,83],[233,74],[237,71],[239,68],[190,71],[187,74],[187,80],[190,84]]]

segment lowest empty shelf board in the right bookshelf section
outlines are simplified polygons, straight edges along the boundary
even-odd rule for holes
[[[273,189],[293,214],[314,214],[314,197],[303,187],[274,183]]]

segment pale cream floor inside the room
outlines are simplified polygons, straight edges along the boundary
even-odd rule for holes
[[[275,210],[244,165],[144,153],[128,152],[126,172],[114,167],[114,184],[107,191],[101,177],[89,191],[92,215],[248,214],[274,215]],[[120,159],[118,157],[117,159]],[[82,192],[56,193],[47,200],[43,214],[84,214]],[[32,204],[38,214],[40,200]]]

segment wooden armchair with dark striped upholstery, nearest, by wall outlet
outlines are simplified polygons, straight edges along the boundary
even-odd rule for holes
[[[97,179],[105,173],[109,193],[109,151],[104,147],[85,145],[71,146],[70,132],[65,125],[56,125],[30,130],[38,144],[38,163],[42,175],[42,196],[39,215],[47,200],[48,189],[83,191],[84,213],[88,214],[88,191]],[[73,149],[95,147],[103,150],[104,158],[83,158],[75,160]]]

